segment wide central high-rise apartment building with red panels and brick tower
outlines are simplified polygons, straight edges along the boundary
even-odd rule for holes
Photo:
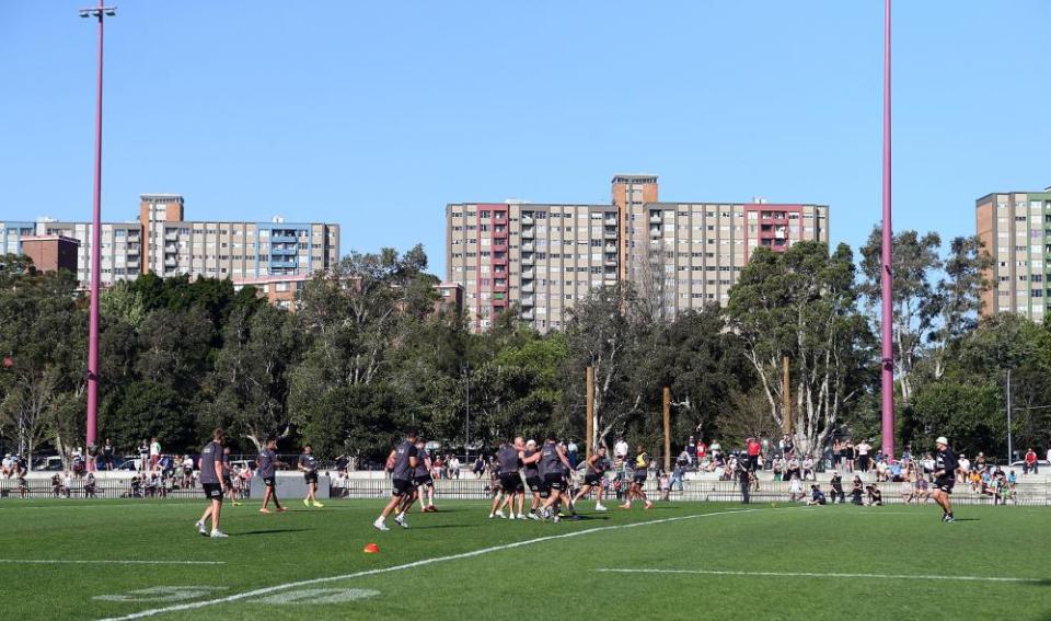
[[[447,280],[464,287],[475,330],[512,304],[541,331],[557,330],[591,289],[635,284],[659,314],[725,304],[758,246],[828,242],[822,205],[660,203],[656,175],[619,174],[609,205],[448,205]]]

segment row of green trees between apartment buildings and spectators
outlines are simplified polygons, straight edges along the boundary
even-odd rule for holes
[[[879,244],[875,230],[857,258],[845,244],[757,249],[726,308],[671,314],[674,287],[603,287],[546,335],[516,309],[482,334],[436,311],[420,246],[349,254],[305,283],[296,312],[230,280],[148,274],[102,296],[100,440],[131,450],[155,436],[193,452],[221,425],[245,451],[277,435],[362,459],[408,427],[453,450],[547,430],[581,441],[589,366],[602,442],[624,436],[659,452],[663,387],[674,445],[694,435],[729,446],[785,427],[805,451],[835,437],[878,440]],[[1006,457],[1008,375],[1016,446],[1047,442],[1051,334],[1018,315],[979,318],[989,262],[974,238],[943,248],[935,233],[894,237],[899,446],[946,435]],[[3,257],[5,451],[82,442],[86,318],[73,275]]]

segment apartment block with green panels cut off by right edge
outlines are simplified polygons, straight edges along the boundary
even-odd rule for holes
[[[982,314],[1015,312],[1043,321],[1051,300],[1051,187],[979,198],[975,231],[993,260]]]

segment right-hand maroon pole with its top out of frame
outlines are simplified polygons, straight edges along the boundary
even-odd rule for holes
[[[894,342],[893,257],[890,226],[890,0],[883,0],[883,240],[880,266],[882,286],[882,436],[883,455],[894,455]]]

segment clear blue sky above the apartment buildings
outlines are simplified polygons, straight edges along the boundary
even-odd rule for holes
[[[0,13],[0,220],[88,219],[88,0]],[[114,0],[116,2],[116,0]],[[880,0],[123,0],[107,22],[104,218],[175,192],[190,219],[336,221],[423,242],[450,202],[668,200],[879,217]],[[896,229],[973,232],[974,199],[1051,185],[1051,2],[896,3]]]

